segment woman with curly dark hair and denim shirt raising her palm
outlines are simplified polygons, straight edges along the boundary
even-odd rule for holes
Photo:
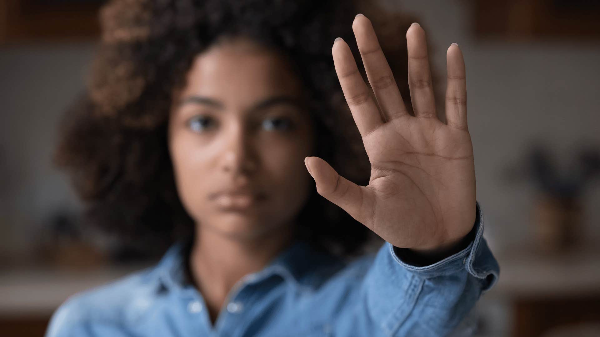
[[[466,333],[499,267],[475,198],[463,57],[449,47],[444,123],[424,30],[407,29],[398,88],[371,20],[354,17],[369,6],[103,8],[92,81],[56,160],[90,221],[171,248],[68,299],[47,336]],[[399,18],[382,41],[407,28]],[[406,67],[393,44],[383,50]],[[346,258],[368,233],[386,241],[377,255]]]

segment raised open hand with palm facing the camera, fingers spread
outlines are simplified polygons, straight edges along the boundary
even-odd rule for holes
[[[352,29],[375,99],[346,42],[336,39],[332,54],[371,163],[371,178],[369,185],[358,186],[321,158],[307,157],[317,192],[394,246],[425,253],[449,248],[469,233],[476,216],[463,55],[456,44],[446,53],[444,124],[437,118],[421,26],[413,23],[406,32],[415,116],[404,106],[370,20],[359,14]]]

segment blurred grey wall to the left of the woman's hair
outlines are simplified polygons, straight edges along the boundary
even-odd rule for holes
[[[92,43],[0,47],[0,253],[26,257],[41,222],[77,209],[50,156],[59,118],[82,90]]]

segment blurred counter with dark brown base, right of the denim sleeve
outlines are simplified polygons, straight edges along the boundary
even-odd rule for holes
[[[600,250],[542,253],[514,249],[496,254],[497,286],[485,294],[512,312],[510,335],[545,336],[562,327],[600,321]]]

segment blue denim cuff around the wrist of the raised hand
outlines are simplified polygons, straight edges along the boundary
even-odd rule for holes
[[[397,248],[388,242],[386,244],[389,246],[390,254],[398,264],[422,278],[450,275],[466,269],[470,275],[481,280],[483,291],[489,290],[498,280],[500,267],[483,237],[484,216],[478,202],[476,208],[475,228],[473,228],[475,238],[456,254],[428,266],[415,266],[407,261],[402,248]]]

